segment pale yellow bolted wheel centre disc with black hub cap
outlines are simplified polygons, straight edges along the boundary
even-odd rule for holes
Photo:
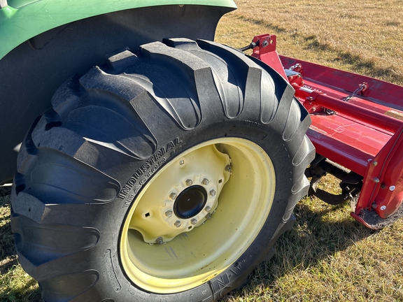
[[[206,159],[201,161],[200,159]],[[139,201],[129,229],[146,243],[164,244],[211,218],[229,180],[227,154],[208,145],[178,158],[153,180]]]

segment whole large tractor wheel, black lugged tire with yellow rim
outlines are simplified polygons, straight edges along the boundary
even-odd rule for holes
[[[17,162],[12,226],[44,301],[217,301],[309,188],[310,119],[209,41],[124,51],[60,87]]]

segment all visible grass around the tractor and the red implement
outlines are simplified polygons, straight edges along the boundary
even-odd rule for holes
[[[216,40],[236,48],[276,34],[281,55],[403,85],[403,2],[239,0]],[[321,184],[330,191],[337,182]],[[381,231],[355,222],[345,206],[303,199],[297,222],[276,243],[246,287],[222,302],[403,301],[403,221]],[[9,198],[0,197],[0,301],[41,301],[37,283],[17,264]]]

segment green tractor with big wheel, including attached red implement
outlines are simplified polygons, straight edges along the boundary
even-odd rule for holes
[[[43,301],[217,301],[306,194],[403,216],[403,87],[214,42],[234,9],[0,0],[0,184]]]

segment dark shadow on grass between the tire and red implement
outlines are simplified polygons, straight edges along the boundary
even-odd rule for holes
[[[254,289],[270,288],[278,278],[291,271],[317,266],[320,261],[378,232],[355,222],[346,210],[342,210],[345,206],[324,204],[323,210],[314,211],[304,200],[299,201],[294,210],[297,218],[294,227],[278,239],[274,257],[255,268],[243,289],[254,292]],[[338,216],[333,220],[332,215]],[[242,299],[245,296],[243,289],[231,292],[222,301]]]

